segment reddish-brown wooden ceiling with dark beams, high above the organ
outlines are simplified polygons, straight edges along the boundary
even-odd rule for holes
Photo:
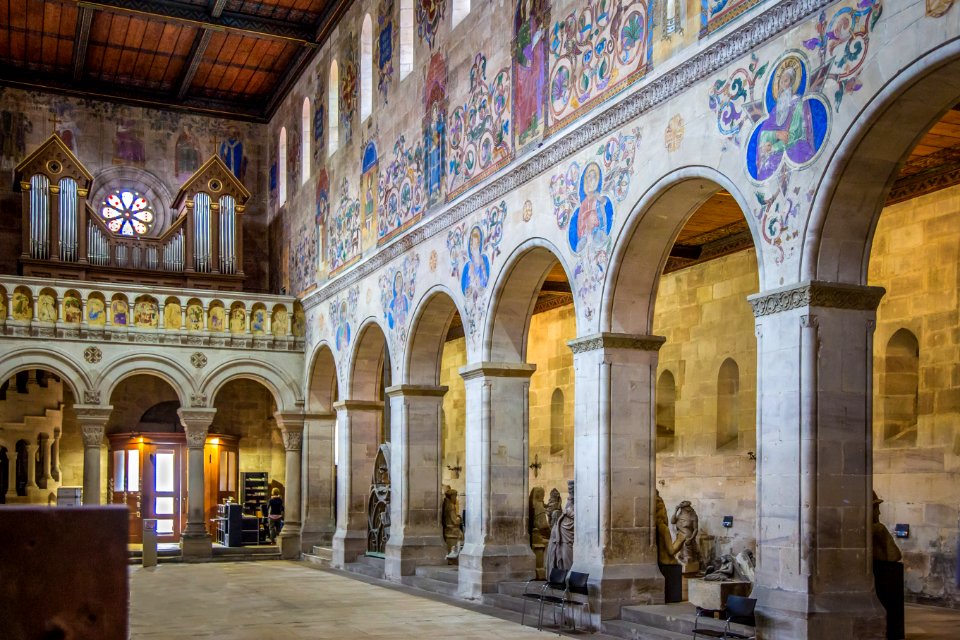
[[[266,121],[349,0],[0,0],[0,84]]]

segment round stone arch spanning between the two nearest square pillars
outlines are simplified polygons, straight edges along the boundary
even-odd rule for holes
[[[749,211],[737,183],[712,167],[688,166],[661,177],[641,196],[614,242],[600,301],[600,331],[648,335],[652,332],[657,287],[670,249],[687,220],[715,193],[725,189],[740,211]],[[757,229],[744,216],[753,238],[763,288],[763,252]]]

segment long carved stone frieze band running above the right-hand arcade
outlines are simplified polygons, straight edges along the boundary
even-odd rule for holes
[[[616,131],[626,123],[652,111],[677,94],[722,70],[727,65],[749,55],[756,47],[774,36],[791,29],[814,15],[834,0],[790,0],[780,2],[749,20],[736,30],[716,39],[701,53],[680,63],[675,68],[628,93],[622,99],[610,101],[609,106],[589,118],[574,122],[566,134],[549,140],[532,151],[526,159],[507,165],[498,177],[480,183],[466,195],[439,211],[431,220],[399,237],[368,260],[349,269],[342,276],[318,287],[303,301],[305,308],[320,304],[366,276],[378,271],[400,255],[420,243],[438,235],[491,202],[501,200],[523,184],[538,177],[550,167],[580,152],[584,147]],[[579,125],[579,126],[578,126]]]

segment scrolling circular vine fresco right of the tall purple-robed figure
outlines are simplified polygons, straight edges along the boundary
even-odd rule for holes
[[[550,36],[550,128],[643,77],[653,54],[651,0],[589,0]]]

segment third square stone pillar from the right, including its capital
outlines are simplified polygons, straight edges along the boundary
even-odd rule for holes
[[[459,571],[465,598],[536,574],[527,526],[527,425],[536,368],[480,362],[460,369],[467,394],[467,522]]]

